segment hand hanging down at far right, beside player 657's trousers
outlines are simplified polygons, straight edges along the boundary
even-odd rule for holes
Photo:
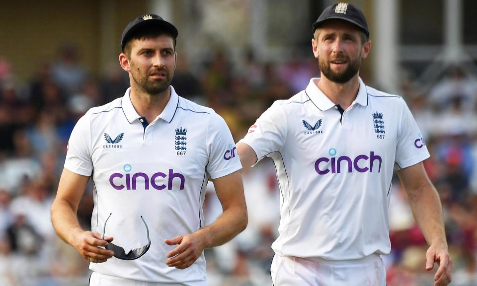
[[[436,275],[434,275],[434,286],[446,286],[451,283],[452,277],[452,260],[449,257],[447,244],[432,243],[426,253],[426,270],[431,271],[434,263],[439,265]]]

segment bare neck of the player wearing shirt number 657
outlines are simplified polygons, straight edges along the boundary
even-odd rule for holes
[[[329,100],[346,110],[358,96],[358,74],[345,83],[338,83],[329,80],[321,73],[317,86]]]

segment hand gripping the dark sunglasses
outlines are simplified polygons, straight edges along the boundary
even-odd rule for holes
[[[101,235],[97,232],[81,231],[74,236],[72,245],[87,261],[101,263],[114,255],[111,250],[100,247],[108,245],[111,241],[113,241],[112,237],[105,236],[104,240],[101,240]]]

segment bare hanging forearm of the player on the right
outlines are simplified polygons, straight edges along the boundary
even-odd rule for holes
[[[431,245],[440,241],[447,246],[442,205],[432,184],[426,184],[420,190],[408,193],[408,198],[412,214],[427,243]]]

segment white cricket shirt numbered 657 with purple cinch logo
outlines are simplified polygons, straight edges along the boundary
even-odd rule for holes
[[[275,163],[280,185],[279,255],[328,260],[389,254],[393,168],[429,152],[404,100],[365,86],[341,112],[312,78],[276,101],[240,143]]]

